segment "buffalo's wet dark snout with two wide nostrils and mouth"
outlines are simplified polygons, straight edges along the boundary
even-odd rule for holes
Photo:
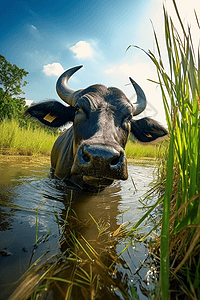
[[[126,180],[127,160],[124,150],[111,146],[82,144],[75,156],[72,173],[93,178]]]

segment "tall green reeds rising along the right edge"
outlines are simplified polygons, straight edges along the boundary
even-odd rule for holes
[[[175,299],[172,289],[184,291],[190,299],[199,299],[200,51],[199,47],[194,49],[190,27],[185,28],[176,2],[172,1],[181,32],[164,8],[167,63],[155,30],[158,54],[145,51],[157,68],[170,133],[163,171],[166,178],[161,236],[153,247],[160,256],[161,299],[168,300],[169,292]],[[175,279],[178,284],[173,286]]]

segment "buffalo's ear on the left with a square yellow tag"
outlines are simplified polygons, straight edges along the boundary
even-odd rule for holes
[[[74,107],[50,100],[30,106],[25,115],[49,127],[58,128],[74,120]]]

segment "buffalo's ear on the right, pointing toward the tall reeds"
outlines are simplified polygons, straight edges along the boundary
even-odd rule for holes
[[[131,133],[140,142],[152,142],[168,134],[167,130],[151,118],[131,121]]]

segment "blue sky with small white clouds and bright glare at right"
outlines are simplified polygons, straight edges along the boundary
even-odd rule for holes
[[[194,9],[200,19],[200,0],[176,2],[198,46],[200,30]],[[164,50],[163,4],[176,21],[172,0],[6,0],[0,12],[0,54],[29,72],[23,87],[26,100],[62,102],[55,90],[58,76],[83,65],[70,78],[71,89],[97,83],[114,86],[135,102],[128,79],[132,77],[147,97],[142,116],[165,125],[160,89],[148,81],[157,79],[153,63],[136,47],[126,51],[136,45],[155,52],[152,23]]]

